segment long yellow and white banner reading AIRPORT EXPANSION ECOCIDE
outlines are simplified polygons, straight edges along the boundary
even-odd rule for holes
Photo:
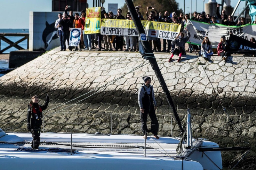
[[[141,21],[141,23],[147,36],[167,40],[175,39],[181,29],[181,25],[173,23],[155,21]],[[101,23],[101,34],[138,36],[133,21],[125,19],[103,19]]]

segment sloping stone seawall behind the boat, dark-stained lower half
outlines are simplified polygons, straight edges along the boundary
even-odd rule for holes
[[[225,63],[218,56],[201,62],[196,56],[186,56],[181,63],[177,59],[168,63],[169,56],[155,54],[184,127],[189,108],[198,137],[209,138],[220,146],[244,145],[228,123],[222,109],[225,107],[252,144],[250,158],[255,158],[256,58],[231,57]],[[140,54],[125,52],[51,50],[0,77],[0,127],[24,131],[30,97],[39,95],[43,100],[48,93],[50,110],[44,113],[44,125],[50,131],[72,128],[110,133],[112,114],[112,133],[142,134],[137,93],[144,75],[152,77],[159,134],[170,135],[172,111],[154,71]],[[174,119],[172,128],[173,135],[178,136]],[[240,153],[223,153],[224,163]]]

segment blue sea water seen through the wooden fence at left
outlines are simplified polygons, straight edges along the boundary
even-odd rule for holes
[[[0,29],[0,34],[2,33],[29,33],[29,29]],[[22,39],[23,37],[21,36],[6,36],[7,39],[11,40],[12,42],[17,42],[20,39]],[[18,43],[19,46],[21,46],[24,49],[27,49],[27,40],[24,40],[20,43]],[[9,46],[8,43],[6,43],[5,41],[1,40],[1,46],[0,49],[4,49],[7,46]],[[3,51],[3,53],[10,53],[11,51],[16,51],[18,49],[16,49],[15,47],[11,47],[6,51]]]

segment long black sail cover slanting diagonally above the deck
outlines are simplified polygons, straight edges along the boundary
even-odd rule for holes
[[[173,110],[173,114],[174,114],[176,122],[179,126],[179,129],[181,130],[182,133],[184,133],[184,129],[183,129],[182,124],[181,124],[181,120],[179,119],[177,110],[174,106],[173,100],[171,99],[170,92],[167,88],[165,80],[163,79],[162,73],[161,73],[161,71],[158,67],[157,60],[154,57],[152,48],[150,47],[149,41],[147,40],[147,38],[145,36],[146,34],[145,34],[145,31],[144,31],[144,28],[142,26],[141,20],[138,18],[138,15],[137,15],[137,12],[135,10],[133,1],[132,0],[125,0],[125,2],[126,2],[126,5],[128,7],[128,10],[131,14],[131,18],[133,19],[133,22],[135,24],[136,30],[137,30],[138,35],[139,35],[139,39],[141,39],[140,53],[142,53],[142,51],[144,50],[144,54],[142,54],[142,56],[143,56],[143,58],[149,60],[150,65],[151,65],[152,69],[154,70],[155,75],[157,76],[157,79],[158,79],[158,81],[159,81],[159,83],[160,83],[160,85],[163,89],[163,92],[166,95],[166,99],[167,99],[171,109]]]

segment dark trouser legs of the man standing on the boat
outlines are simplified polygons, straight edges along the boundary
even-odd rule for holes
[[[149,117],[151,119],[151,133],[153,135],[157,135],[159,125],[158,125],[157,116],[155,115],[155,109],[154,108],[151,108],[150,111],[144,109],[144,113],[141,112],[141,128],[142,128],[143,131],[149,132],[149,130],[147,129],[147,114],[149,114]]]

